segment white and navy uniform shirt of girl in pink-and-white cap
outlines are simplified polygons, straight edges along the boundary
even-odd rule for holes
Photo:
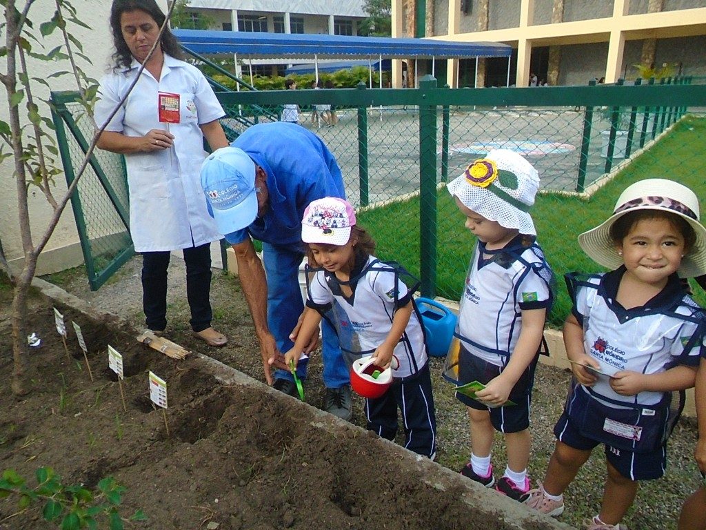
[[[341,338],[341,348],[353,343],[357,353],[371,355],[390,333],[395,311],[412,300],[412,290],[400,279],[400,271],[406,273],[399,265],[381,262],[373,256],[357,263],[347,282],[353,292],[348,298],[334,273],[316,269],[309,283],[306,305],[326,313],[337,304],[345,312],[332,322]],[[412,311],[393,355],[400,363],[393,377],[413,375],[426,365],[424,331],[417,311]]]

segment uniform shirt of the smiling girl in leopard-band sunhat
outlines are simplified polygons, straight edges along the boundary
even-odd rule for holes
[[[655,405],[663,392],[621,396],[611,389],[608,376],[621,370],[651,375],[676,365],[698,365],[704,349],[704,312],[684,293],[676,274],[644,306],[626,310],[616,302],[625,271],[621,266],[584,278],[567,275],[572,312],[584,329],[584,349],[606,374],[598,376],[590,393],[618,403]]]

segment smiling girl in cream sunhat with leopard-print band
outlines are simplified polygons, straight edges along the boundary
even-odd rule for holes
[[[682,278],[706,272],[706,229],[695,194],[645,179],[620,196],[613,215],[578,237],[609,273],[566,275],[573,309],[564,324],[573,381],[554,427],[544,483],[525,504],[552,516],[592,449],[604,445],[608,476],[588,530],[618,530],[638,481],[659,478],[666,440],[693,387],[704,352],[705,314]]]

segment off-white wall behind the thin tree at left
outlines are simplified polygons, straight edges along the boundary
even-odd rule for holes
[[[160,6],[166,10],[166,2],[160,1]],[[112,36],[109,31],[109,11],[111,1],[106,0],[72,0],[71,4],[76,8],[77,16],[85,24],[90,26],[90,30],[71,26],[71,34],[83,43],[83,52],[90,57],[92,66],[82,64],[83,70],[93,78],[100,78],[109,66],[109,57],[113,52]],[[23,2],[18,4],[23,5]],[[29,18],[35,27],[35,33],[39,35],[39,25],[45,20],[49,20],[55,10],[53,0],[35,0],[29,12]],[[42,37],[39,37],[42,40]],[[52,35],[42,40],[46,51],[61,43],[58,30]],[[38,46],[35,42],[32,46]],[[37,50],[39,51],[39,50]],[[51,73],[56,71],[70,70],[68,61],[43,62],[30,59],[28,68],[31,68],[30,76],[45,78],[49,81],[52,90],[76,90],[76,85],[71,82],[70,76],[59,78],[49,78]],[[7,71],[6,59],[0,58],[0,70]],[[49,90],[35,83],[32,86],[35,98],[48,98]],[[0,119],[7,122],[8,108],[6,98],[0,98]],[[40,105],[40,114],[51,117],[47,105],[37,101]],[[25,102],[20,103],[24,106]],[[24,107],[23,107],[24,111]],[[24,112],[21,112],[24,114]],[[5,148],[7,152],[7,147]],[[61,167],[61,160],[56,164]],[[0,165],[0,186],[3,190],[0,193],[0,240],[4,247],[4,252],[8,260],[14,266],[20,266],[23,259],[22,243],[19,234],[17,194],[15,178],[13,176],[13,160],[8,158]],[[66,192],[66,178],[63,173],[56,176],[54,194],[57,197]],[[37,240],[44,233],[52,216],[52,209],[47,204],[44,196],[36,187],[30,187],[30,218],[32,222],[32,237],[36,245]],[[83,256],[78,245],[78,234],[76,223],[73,220],[73,212],[69,204],[61,216],[59,225],[56,227],[47,247],[40,256],[37,274],[48,273],[66,269],[69,266],[76,266],[83,263]]]

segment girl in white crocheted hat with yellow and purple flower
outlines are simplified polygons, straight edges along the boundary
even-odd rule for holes
[[[519,154],[498,149],[447,187],[478,239],[460,301],[458,341],[444,370],[459,386],[484,385],[456,393],[468,408],[471,430],[471,457],[461,473],[519,500],[530,490],[532,384],[552,302],[553,276],[529,213],[539,175]],[[497,483],[491,464],[496,430],[508,454]]]

